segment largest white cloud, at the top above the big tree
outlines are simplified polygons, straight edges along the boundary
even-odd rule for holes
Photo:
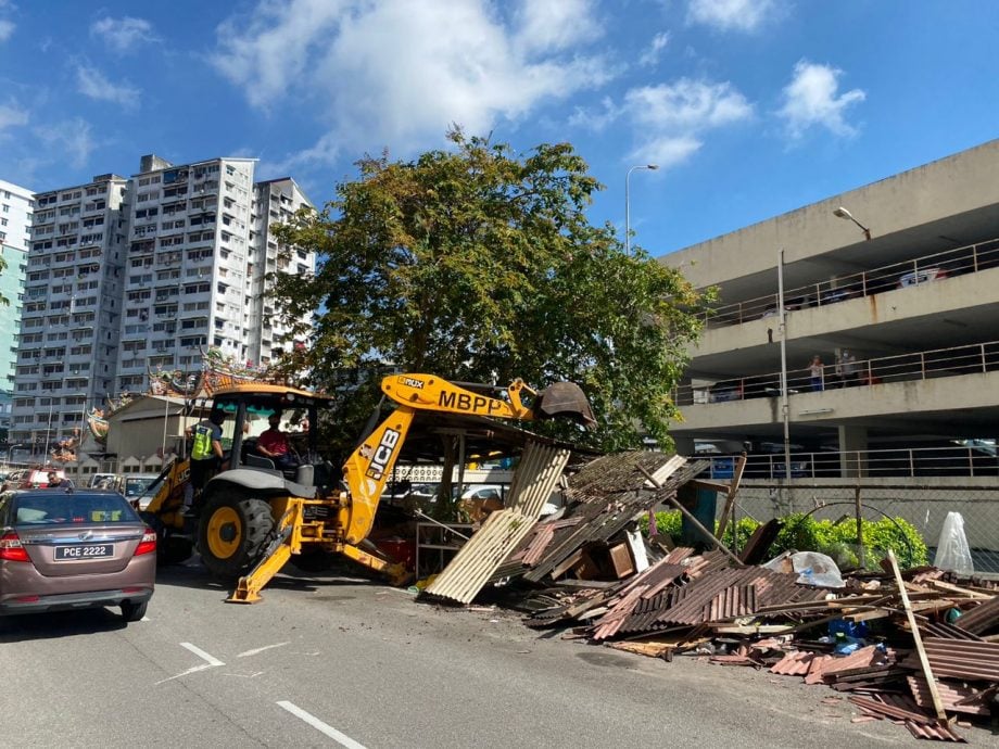
[[[489,0],[262,2],[219,26],[213,62],[261,109],[320,102],[324,157],[406,153],[453,123],[484,134],[615,75],[580,48],[599,31],[589,1],[522,0],[509,17]]]

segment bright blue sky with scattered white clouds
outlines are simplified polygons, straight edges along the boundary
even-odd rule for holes
[[[0,179],[40,191],[260,158],[317,203],[353,163],[570,141],[591,218],[653,255],[996,137],[987,0],[0,0]]]

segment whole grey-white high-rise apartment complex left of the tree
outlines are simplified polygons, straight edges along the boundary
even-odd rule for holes
[[[207,347],[268,364],[287,331],[267,274],[307,274],[271,228],[308,201],[290,178],[253,181],[254,162],[176,166],[141,158],[130,179],[36,195],[12,440],[53,442],[149,373],[197,370]],[[51,418],[51,423],[50,423]]]

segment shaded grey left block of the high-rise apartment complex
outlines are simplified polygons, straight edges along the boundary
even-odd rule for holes
[[[113,392],[127,183],[108,174],[35,195],[11,443],[54,443]]]

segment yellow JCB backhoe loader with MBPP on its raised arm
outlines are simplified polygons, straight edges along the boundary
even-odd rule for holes
[[[391,374],[381,390],[396,406],[349,456],[342,480],[317,444],[319,411],[330,405],[329,398],[270,384],[217,390],[212,414],[229,417],[219,421],[230,449],[224,470],[198,496],[198,517],[185,507],[185,496],[190,496],[188,459],[164,469],[143,512],[159,532],[167,560],[187,558],[197,544],[210,572],[238,579],[229,598],[233,602],[260,600],[261,589],[289,560],[308,569],[330,555],[346,556],[401,582],[404,567],[366,539],[415,419],[426,415],[447,429],[471,430],[486,439],[497,431],[494,419],[594,421],[582,391],[570,382],[535,392],[521,380],[498,388],[452,383],[433,374]],[[256,450],[260,426],[277,412],[290,414],[292,423],[303,426],[289,434],[296,466],[278,466]]]

